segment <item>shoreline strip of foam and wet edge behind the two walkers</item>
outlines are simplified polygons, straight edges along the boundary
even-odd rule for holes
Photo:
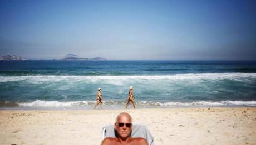
[[[96,101],[44,101],[9,102],[0,101],[0,110],[91,110]],[[104,101],[104,109],[122,109],[124,101]],[[195,108],[195,107],[256,107],[256,101],[222,100],[222,101],[136,101],[136,108]],[[98,106],[97,108],[100,108]],[[129,108],[133,108],[131,105]]]

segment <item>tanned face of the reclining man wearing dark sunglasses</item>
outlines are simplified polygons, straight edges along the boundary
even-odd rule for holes
[[[126,115],[120,116],[115,123],[117,134],[119,134],[119,137],[121,137],[122,139],[129,137],[131,134],[132,125],[129,127],[127,123],[131,124],[131,119]]]

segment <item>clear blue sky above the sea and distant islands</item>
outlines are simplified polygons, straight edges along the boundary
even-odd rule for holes
[[[0,1],[0,55],[256,60],[256,1]]]

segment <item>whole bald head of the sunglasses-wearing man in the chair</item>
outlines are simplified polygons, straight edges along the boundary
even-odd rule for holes
[[[116,117],[115,129],[117,131],[117,135],[121,139],[126,139],[130,136],[132,130],[132,118],[126,113],[122,112]]]

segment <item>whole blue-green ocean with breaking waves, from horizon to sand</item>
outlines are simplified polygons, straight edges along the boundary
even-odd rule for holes
[[[0,109],[256,106],[256,61],[0,61]],[[130,105],[129,108],[132,108]]]

